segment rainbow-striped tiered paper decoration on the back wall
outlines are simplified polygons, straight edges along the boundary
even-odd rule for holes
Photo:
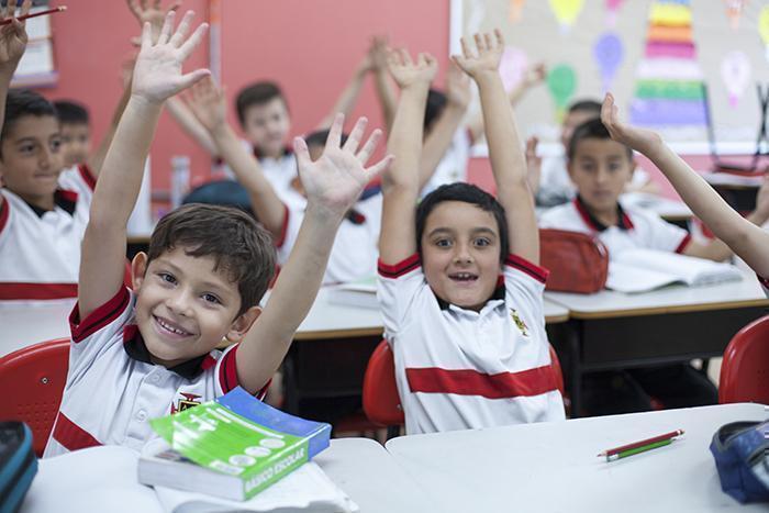
[[[643,126],[705,126],[703,75],[692,40],[690,0],[656,0],[646,48],[636,69],[631,122]]]

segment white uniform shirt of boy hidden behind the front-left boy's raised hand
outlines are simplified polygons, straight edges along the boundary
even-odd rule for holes
[[[304,207],[287,204],[286,212],[282,233],[276,242],[278,264],[281,266],[286,265],[297,242]],[[344,283],[376,275],[381,218],[381,193],[358,201],[347,213],[336,232],[323,285]]]

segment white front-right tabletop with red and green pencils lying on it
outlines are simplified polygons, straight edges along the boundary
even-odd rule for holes
[[[766,512],[722,492],[709,445],[759,404],[668,410],[393,438],[387,449],[442,512]],[[677,428],[670,446],[606,462],[604,449]]]

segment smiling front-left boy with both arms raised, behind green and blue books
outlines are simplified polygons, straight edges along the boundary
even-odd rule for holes
[[[164,103],[210,74],[181,74],[207,29],[187,37],[192,18],[189,11],[174,31],[170,12],[156,42],[144,26],[131,99],[82,243],[67,382],[45,456],[108,444],[138,450],[154,436],[148,421],[174,413],[180,401],[209,401],[237,386],[264,394],[314,301],[343,215],[390,160],[364,169],[381,132],[358,152],[363,119],[339,147],[344,116],[337,116],[314,163],[304,142],[294,141],[308,208],[264,310],[272,242],[231,208],[190,204],[160,220],[148,254],[133,260],[134,291],[125,288],[126,223]],[[224,338],[239,344],[220,353]]]

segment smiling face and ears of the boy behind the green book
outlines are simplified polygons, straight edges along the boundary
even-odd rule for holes
[[[213,257],[193,257],[176,247],[147,266],[133,261],[136,324],[153,361],[172,367],[205,355],[224,338],[236,342],[259,314],[258,306],[237,315],[241,293]]]

